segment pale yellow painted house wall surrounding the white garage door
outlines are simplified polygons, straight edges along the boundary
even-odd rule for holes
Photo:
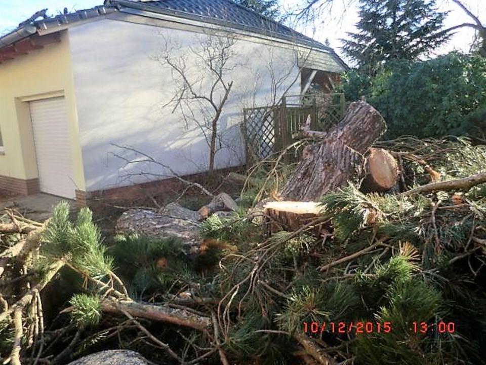
[[[27,99],[64,95],[78,190],[85,190],[76,101],[71,70],[69,36],[61,42],[0,63],[0,128],[5,154],[0,155],[0,175],[38,177]]]

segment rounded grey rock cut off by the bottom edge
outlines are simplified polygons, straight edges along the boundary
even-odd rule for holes
[[[149,362],[135,351],[107,350],[74,360],[68,365],[149,365]]]

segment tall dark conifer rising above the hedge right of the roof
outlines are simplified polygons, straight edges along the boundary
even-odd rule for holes
[[[359,32],[348,32],[343,51],[369,75],[390,59],[415,60],[450,38],[441,31],[447,12],[435,0],[360,0]]]

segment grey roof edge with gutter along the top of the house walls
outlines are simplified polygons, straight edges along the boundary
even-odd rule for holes
[[[331,62],[332,65],[330,69],[325,70],[342,72],[343,70],[348,69],[346,63],[339,58],[332,48],[322,45],[310,38],[307,39],[307,37],[302,34],[300,34],[300,38],[297,38],[297,35],[299,34],[297,32],[295,32],[296,37],[294,38],[293,36],[280,33],[277,34],[272,31],[257,29],[252,26],[233,24],[222,19],[210,20],[205,16],[186,13],[181,14],[181,12],[178,11],[154,8],[143,2],[110,0],[106,1],[105,4],[106,5],[97,6],[92,9],[79,10],[70,14],[61,14],[41,21],[34,21],[32,24],[19,27],[0,37],[0,62],[42,48],[44,44],[42,44],[43,42],[41,39],[48,34],[59,34],[61,30],[71,26],[82,25],[87,22],[106,18],[125,20],[124,18],[126,17],[122,16],[122,14],[125,14],[131,17],[158,19],[174,24],[184,24],[192,27],[232,32],[277,42],[290,47],[297,46],[299,49],[303,48],[307,50],[306,52],[311,52],[310,59],[308,59],[307,62],[303,62],[301,66],[323,69],[321,67],[325,66],[326,63],[329,64],[329,59],[327,62],[323,62],[323,57],[326,55],[327,57],[331,57],[334,62]],[[302,37],[304,37],[304,39]],[[52,38],[46,40],[49,43],[52,43],[53,41]]]

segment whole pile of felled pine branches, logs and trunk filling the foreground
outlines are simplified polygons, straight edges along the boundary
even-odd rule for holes
[[[3,363],[111,348],[174,364],[484,363],[486,148],[376,142],[380,118],[358,103],[331,139],[304,126],[319,141],[303,161],[232,174],[236,202],[127,210],[109,248],[88,209],[42,224],[8,212]],[[347,177],[327,181],[330,161]]]

